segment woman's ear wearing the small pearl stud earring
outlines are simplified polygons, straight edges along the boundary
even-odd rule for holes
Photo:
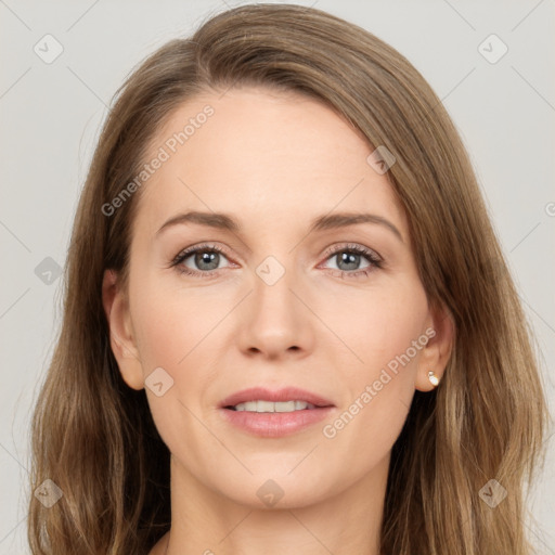
[[[427,324],[424,335],[428,337],[428,341],[421,351],[416,374],[416,389],[420,391],[435,388],[428,377],[429,371],[439,380],[443,377],[455,336],[454,320],[446,307],[431,309]]]

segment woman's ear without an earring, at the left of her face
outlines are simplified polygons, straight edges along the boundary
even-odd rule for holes
[[[133,337],[129,302],[118,287],[117,273],[105,270],[102,281],[102,305],[109,327],[109,345],[125,383],[133,389],[143,389],[144,376]]]

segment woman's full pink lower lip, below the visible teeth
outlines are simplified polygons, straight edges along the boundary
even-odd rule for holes
[[[300,431],[323,421],[335,406],[321,406],[293,412],[250,412],[221,409],[223,417],[255,436],[279,438]]]

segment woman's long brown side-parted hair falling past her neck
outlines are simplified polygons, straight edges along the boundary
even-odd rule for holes
[[[184,100],[250,85],[323,101],[369,145],[393,153],[387,176],[409,219],[422,283],[453,317],[444,377],[436,390],[415,392],[393,446],[382,553],[531,553],[524,490],[542,459],[546,404],[530,331],[462,141],[395,49],[291,4],[218,14],[153,53],[116,93],[80,197],[63,324],[33,420],[31,493],[57,491],[47,479],[63,493],[49,507],[29,495],[33,553],[144,554],[170,527],[169,452],[144,390],[121,379],[101,299],[105,269],[125,283],[140,192],[113,215],[102,207],[138,175],[156,131]],[[495,507],[480,494],[491,479],[507,492]]]

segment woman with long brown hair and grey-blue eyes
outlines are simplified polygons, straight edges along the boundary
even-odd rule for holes
[[[66,280],[34,554],[530,553],[522,310],[448,114],[367,31],[246,5],[151,55]]]

